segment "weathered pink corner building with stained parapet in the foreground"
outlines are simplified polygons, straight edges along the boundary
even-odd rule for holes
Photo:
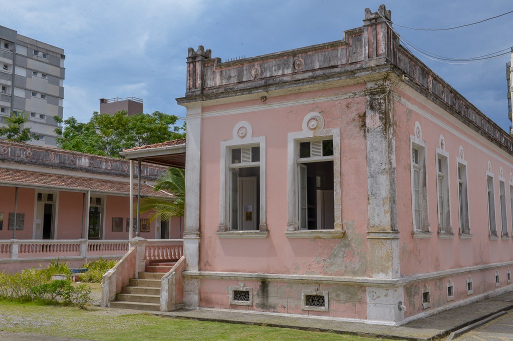
[[[189,49],[189,308],[381,324],[510,291],[513,140],[399,44]]]

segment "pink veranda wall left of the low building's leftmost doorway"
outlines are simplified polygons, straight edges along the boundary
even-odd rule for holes
[[[4,223],[0,230],[0,239],[12,239],[12,230],[8,229],[9,213],[14,213],[14,187],[0,186],[0,212],[4,214]],[[17,212],[25,214],[24,229],[16,230],[16,239],[32,239],[34,223],[35,190],[18,187]]]

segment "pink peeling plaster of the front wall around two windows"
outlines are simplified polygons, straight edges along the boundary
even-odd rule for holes
[[[281,102],[361,90],[363,84],[303,94],[269,98]],[[258,101],[216,105],[204,111],[235,108]],[[302,131],[302,121],[311,111],[322,112],[325,128],[339,128],[341,137],[342,222],[344,239],[289,239],[287,227],[287,133]],[[365,97],[228,116],[206,117],[201,153],[201,252],[200,269],[289,274],[365,276],[367,271],[367,168],[366,142],[358,115],[365,112]],[[234,125],[247,121],[252,136],[266,137],[266,239],[220,239],[221,141],[232,138]],[[214,204],[215,203],[215,204]]]

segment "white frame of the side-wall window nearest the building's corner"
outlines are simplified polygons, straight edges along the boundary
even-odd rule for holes
[[[415,131],[417,136],[410,135],[410,176],[411,176],[411,215],[412,215],[412,233],[414,238],[429,238],[431,236],[431,224],[429,222],[429,183],[428,183],[428,167],[427,167],[427,148],[426,142],[422,140],[422,131],[418,122],[415,124]],[[419,151],[419,164],[414,164],[412,160],[413,149],[416,148]],[[417,219],[415,216],[415,210],[417,209],[415,204],[415,178],[414,171],[419,172],[419,210],[420,210],[420,225],[417,226]],[[422,191],[422,180],[426,182],[426,190]]]

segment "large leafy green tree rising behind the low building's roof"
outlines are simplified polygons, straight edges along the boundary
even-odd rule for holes
[[[126,111],[113,115],[94,112],[87,123],[78,122],[74,117],[54,119],[64,123],[62,129],[55,130],[61,135],[57,138],[61,148],[117,158],[125,149],[185,137],[185,126],[175,125],[178,118],[159,111],[132,116]]]

